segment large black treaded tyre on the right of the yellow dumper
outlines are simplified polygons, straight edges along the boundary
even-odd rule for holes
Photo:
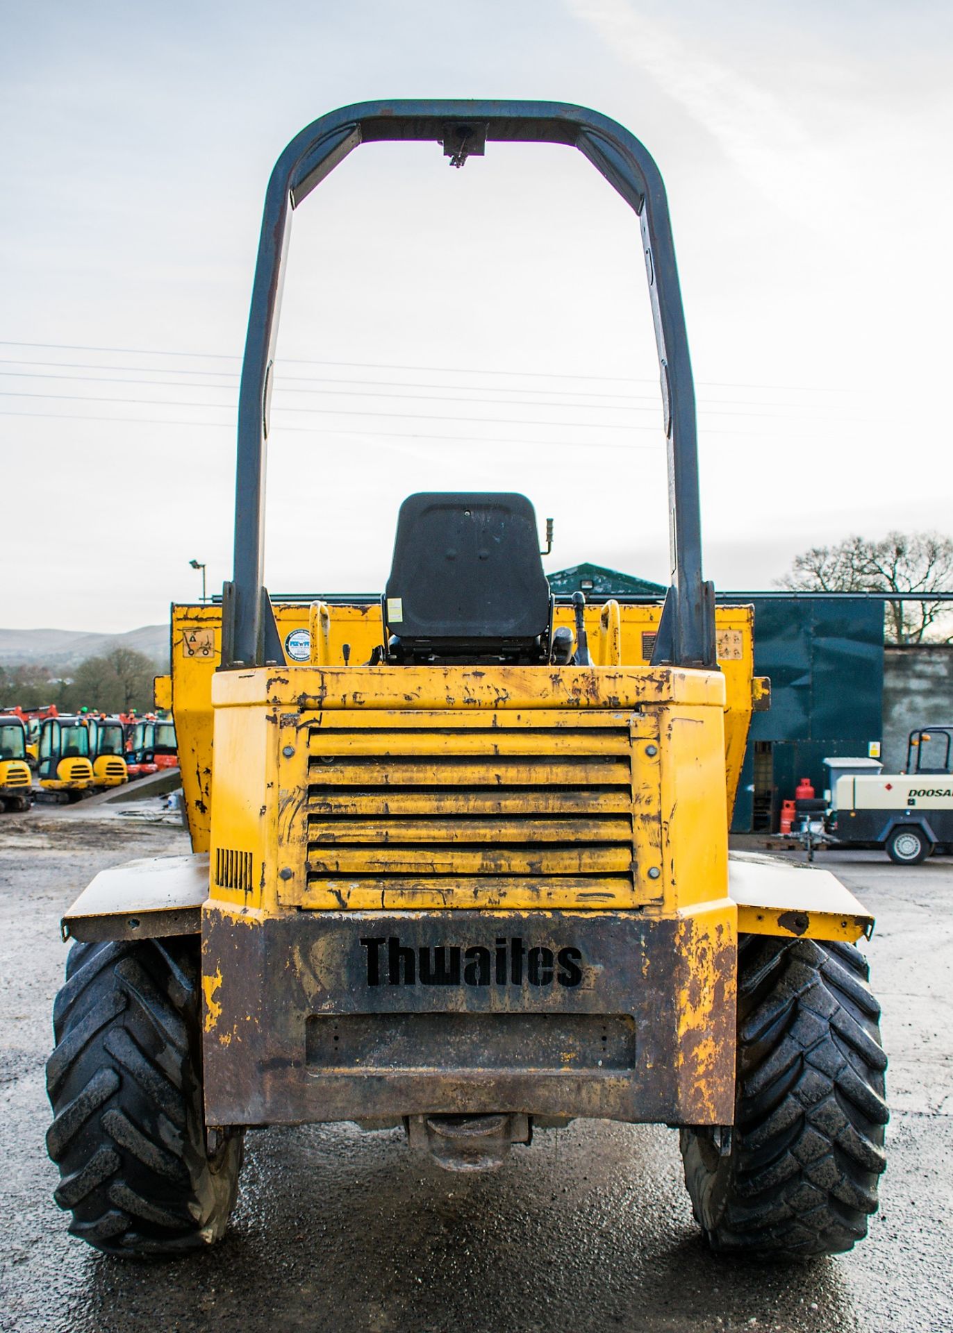
[[[685,1184],[714,1250],[809,1258],[866,1236],[886,1165],[886,1056],[864,956],[742,936],[734,1126],[682,1129]]]

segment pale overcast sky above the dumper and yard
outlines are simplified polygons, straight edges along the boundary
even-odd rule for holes
[[[388,97],[573,101],[665,177],[706,573],[953,531],[953,7],[878,0],[0,0],[0,624],[124,631],[229,577],[271,167]],[[273,591],[376,591],[400,501],[514,489],[549,569],[668,575],[634,215],[573,149],[352,153],[295,216]]]

